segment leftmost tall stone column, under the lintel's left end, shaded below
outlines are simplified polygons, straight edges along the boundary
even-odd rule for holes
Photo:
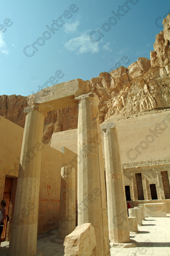
[[[39,106],[26,111],[25,128],[22,140],[15,208],[8,256],[42,255],[36,252],[41,142],[46,113]]]

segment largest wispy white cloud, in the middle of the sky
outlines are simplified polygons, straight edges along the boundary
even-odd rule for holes
[[[66,42],[64,46],[67,50],[75,51],[76,54],[86,52],[95,53],[99,51],[98,43],[92,42],[87,34],[82,34],[79,37],[72,38],[70,41]]]

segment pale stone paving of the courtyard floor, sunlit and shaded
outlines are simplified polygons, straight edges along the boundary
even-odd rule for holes
[[[136,240],[138,247],[110,248],[111,256],[170,256],[170,217],[146,218],[143,226],[138,226],[139,233],[130,233],[131,239]],[[49,240],[46,233],[37,236],[37,251],[42,256],[63,256],[64,240],[55,239],[56,234],[51,233]],[[7,256],[9,242],[2,242],[0,255]],[[89,256],[89,255],[86,255]]]

